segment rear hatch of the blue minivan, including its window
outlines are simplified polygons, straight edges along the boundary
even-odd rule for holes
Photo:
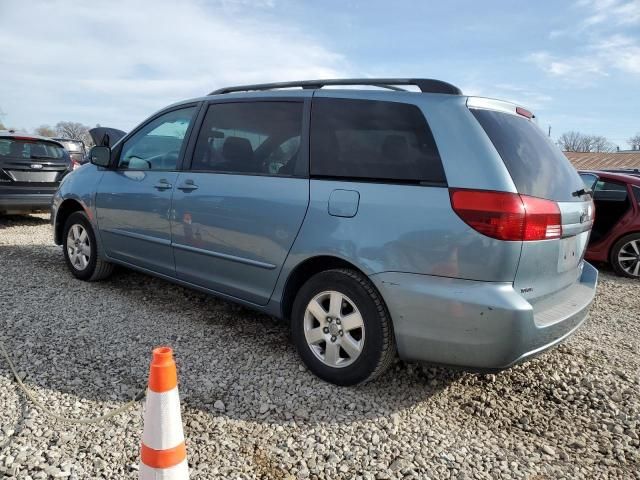
[[[467,105],[502,157],[525,209],[541,204],[557,218],[546,226],[544,239],[522,242],[514,288],[535,304],[579,280],[595,213],[592,198],[530,112],[472,100]]]

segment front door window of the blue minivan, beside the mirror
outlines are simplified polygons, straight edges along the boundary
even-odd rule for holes
[[[175,170],[196,107],[165,113],[142,127],[122,146],[119,169]]]

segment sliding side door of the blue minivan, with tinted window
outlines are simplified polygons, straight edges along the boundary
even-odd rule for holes
[[[179,279],[266,305],[309,202],[303,99],[214,103],[173,196]]]

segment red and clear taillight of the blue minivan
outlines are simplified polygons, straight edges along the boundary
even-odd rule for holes
[[[474,230],[498,240],[549,240],[562,235],[556,202],[517,193],[450,189],[451,206]]]

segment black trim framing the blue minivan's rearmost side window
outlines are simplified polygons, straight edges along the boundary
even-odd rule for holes
[[[372,98],[352,98],[352,97],[333,97],[333,96],[314,96],[313,101],[316,100],[338,100],[338,101],[357,101],[357,102],[379,102],[379,103],[394,103],[405,105],[409,107],[416,108],[418,113],[422,116],[424,123],[427,127],[429,135],[433,139],[433,145],[435,147],[435,153],[438,155],[438,160],[440,161],[440,165],[442,167],[442,173],[444,175],[444,180],[442,181],[432,181],[432,180],[413,180],[413,179],[394,179],[394,178],[378,178],[378,177],[353,177],[353,176],[339,176],[339,175],[323,175],[323,174],[311,174],[311,127],[309,128],[309,178],[312,180],[329,180],[336,182],[351,182],[351,183],[377,183],[377,184],[385,184],[385,185],[413,185],[413,186],[421,186],[421,187],[436,187],[436,188],[448,188],[449,181],[447,179],[447,172],[444,167],[444,161],[442,159],[442,155],[440,154],[440,149],[438,148],[438,142],[436,141],[436,137],[433,134],[433,130],[431,129],[431,125],[425,114],[424,110],[415,103],[411,102],[402,102],[397,100],[380,100],[380,99],[372,99]],[[309,122],[311,123],[311,116],[309,116]]]

